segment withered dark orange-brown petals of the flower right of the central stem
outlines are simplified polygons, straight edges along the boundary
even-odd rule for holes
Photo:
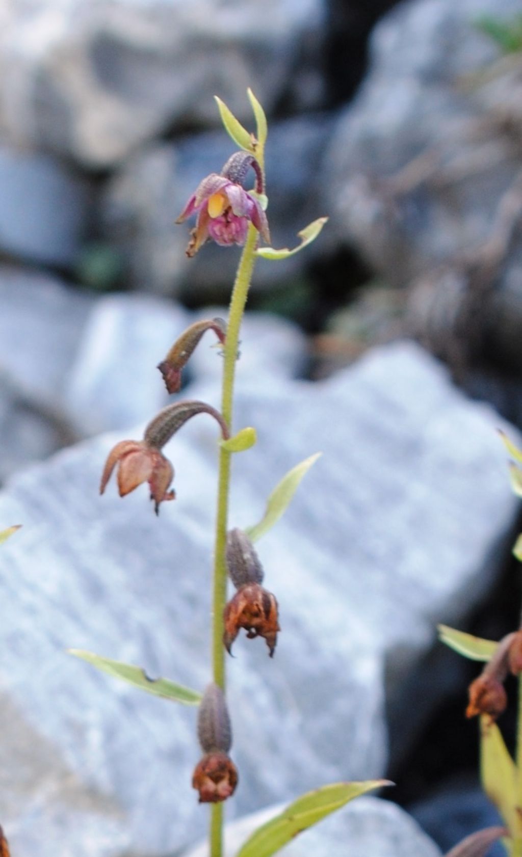
[[[272,592],[260,584],[241,586],[225,607],[224,621],[223,642],[229,654],[237,634],[244,628],[249,639],[264,637],[273,657],[280,628],[278,602]]]

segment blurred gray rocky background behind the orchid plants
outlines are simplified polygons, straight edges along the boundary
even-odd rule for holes
[[[237,465],[237,510],[325,454],[263,548],[282,566],[287,633],[275,672],[241,651],[236,812],[387,774],[387,797],[443,849],[495,823],[462,721],[473,668],[434,645],[437,621],[492,638],[517,621],[517,507],[495,428],[522,427],[519,0],[19,0],[0,25],[0,507],[25,525],[0,558],[14,854],[149,857],[201,837],[191,714],[162,719],[63,649],[207,680],[195,588],[213,436],[188,432],[159,524],[143,496],[100,505],[96,488],[110,443],[165,404],[154,366],[171,342],[224,313],[237,253],[187,260],[174,220],[233,151],[213,95],[248,126],[248,86],[270,121],[274,246],[330,222],[303,254],[259,262],[243,330],[239,410],[260,443]],[[218,377],[204,340],[187,391],[212,401]],[[177,566],[192,582],[165,598]],[[275,781],[249,758],[256,716],[265,758],[286,758]],[[436,854],[399,809],[368,806],[395,835],[364,838],[376,822],[354,811],[317,853],[357,830],[360,854]]]

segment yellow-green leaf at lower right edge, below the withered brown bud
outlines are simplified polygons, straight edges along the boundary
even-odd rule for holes
[[[501,730],[489,716],[480,718],[480,772],[483,789],[493,801],[512,836],[520,835],[517,812],[517,770]]]

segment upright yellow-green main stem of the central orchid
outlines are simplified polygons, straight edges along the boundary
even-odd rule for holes
[[[232,290],[229,308],[228,327],[225,339],[225,360],[223,366],[223,388],[221,394],[221,414],[232,428],[234,404],[234,378],[236,375],[237,346],[239,329],[249,294],[249,285],[255,264],[255,248],[258,232],[249,225],[247,240],[237,268],[236,281]],[[212,607],[212,663],[213,680],[225,692],[225,646],[223,645],[223,611],[226,603],[226,531],[228,521],[228,495],[231,476],[231,452],[222,447],[219,450],[218,513],[216,518],[216,538],[214,547],[213,607]],[[221,857],[223,853],[223,805],[213,804],[210,822],[210,857]]]

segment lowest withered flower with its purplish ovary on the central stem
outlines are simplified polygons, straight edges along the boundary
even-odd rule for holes
[[[192,787],[200,803],[219,803],[230,798],[237,786],[237,769],[228,756],[231,748],[231,722],[221,689],[207,686],[198,714],[198,739],[205,753],[195,767]]]

